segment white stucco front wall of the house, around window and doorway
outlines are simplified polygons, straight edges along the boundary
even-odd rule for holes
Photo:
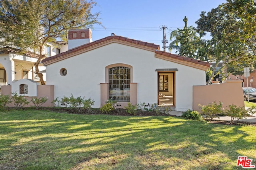
[[[112,43],[98,49],[71,57],[46,68],[46,83],[54,85],[55,97],[85,96],[95,100],[100,107],[100,83],[105,82],[105,67],[123,63],[133,66],[133,82],[138,83],[138,103],[157,103],[157,68],[177,68],[176,110],[192,109],[192,86],[204,85],[205,72],[182,64],[154,57],[155,53],[126,45]],[[66,68],[67,75],[61,76],[60,69]]]

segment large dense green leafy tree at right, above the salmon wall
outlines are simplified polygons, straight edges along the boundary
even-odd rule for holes
[[[223,44],[220,53],[222,55],[227,51],[229,53],[229,55],[226,54],[226,57],[223,56],[222,68],[217,72],[217,74],[222,74],[224,78],[228,76],[229,72],[237,75],[243,74],[244,67],[250,67],[254,70],[256,48],[255,43],[248,41],[248,38],[252,40],[253,35],[255,36],[255,30],[254,33],[250,33],[253,30],[255,20],[251,20],[253,15],[250,15],[246,21],[246,16],[241,12],[243,10],[242,4],[244,7],[249,4],[249,1],[228,0],[226,4],[212,9],[207,15],[206,12],[201,12],[200,19],[196,21],[198,32],[204,31],[204,35],[210,33],[215,43]],[[241,5],[240,8],[238,5]],[[248,9],[253,11],[251,8]],[[246,28],[246,24],[251,27]],[[220,55],[216,55],[216,49],[214,51],[208,59],[218,63],[218,56],[220,57]]]

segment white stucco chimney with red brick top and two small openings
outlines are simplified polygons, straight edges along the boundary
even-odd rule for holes
[[[87,29],[70,29],[68,31],[68,49],[92,42],[92,30]]]

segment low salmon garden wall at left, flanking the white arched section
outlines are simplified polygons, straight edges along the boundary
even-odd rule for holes
[[[2,95],[12,95],[12,86],[1,86]],[[54,86],[53,85],[37,85],[37,98],[46,97],[48,100],[42,105],[42,107],[54,107],[52,104],[52,100],[54,100]],[[33,98],[32,96],[24,96],[30,102]],[[8,107],[14,107],[14,104],[8,104]],[[24,107],[34,106],[32,102],[30,104],[25,105]]]

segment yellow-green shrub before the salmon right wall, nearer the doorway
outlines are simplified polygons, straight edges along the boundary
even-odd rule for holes
[[[218,114],[222,114],[222,103],[216,104],[216,102],[213,102],[211,104],[208,104],[206,106],[200,105],[201,113],[206,117],[207,121],[211,121],[214,117],[216,117]]]

